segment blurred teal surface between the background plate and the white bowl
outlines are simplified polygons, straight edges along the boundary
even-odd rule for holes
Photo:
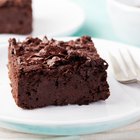
[[[85,12],[86,21],[74,36],[90,35],[95,38],[120,41],[112,29],[106,0],[73,0]]]

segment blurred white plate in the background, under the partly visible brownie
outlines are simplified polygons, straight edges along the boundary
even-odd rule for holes
[[[70,0],[34,0],[33,35],[68,36],[84,23],[85,15]]]

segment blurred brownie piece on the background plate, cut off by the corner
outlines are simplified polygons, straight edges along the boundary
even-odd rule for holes
[[[31,0],[0,0],[0,33],[31,33],[31,4]]]

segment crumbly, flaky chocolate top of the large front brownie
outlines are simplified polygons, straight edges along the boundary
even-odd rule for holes
[[[43,40],[28,37],[23,42],[10,39],[9,45],[12,48],[11,53],[18,57],[18,64],[21,67],[39,65],[51,68],[100,59],[88,36],[68,42],[49,40],[47,37]]]

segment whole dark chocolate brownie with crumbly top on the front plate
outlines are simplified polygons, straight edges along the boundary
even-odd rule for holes
[[[21,108],[83,105],[110,95],[108,64],[88,36],[68,42],[10,39],[8,67],[12,94]]]

